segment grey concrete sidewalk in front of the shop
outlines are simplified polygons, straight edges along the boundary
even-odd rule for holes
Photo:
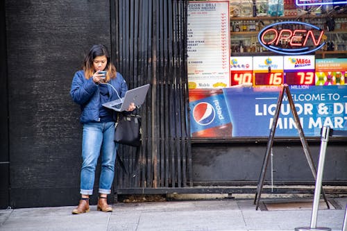
[[[341,230],[347,198],[335,198],[339,209],[319,209],[317,227]],[[253,200],[194,200],[117,203],[114,212],[72,215],[76,206],[0,210],[1,231],[136,230],[226,231],[291,230],[309,227],[311,209],[255,210]]]

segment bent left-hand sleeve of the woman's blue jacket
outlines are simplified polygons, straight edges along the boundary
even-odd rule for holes
[[[71,83],[70,95],[75,103],[83,105],[90,100],[96,89],[98,89],[98,86],[92,78],[86,80],[81,72],[76,72]]]

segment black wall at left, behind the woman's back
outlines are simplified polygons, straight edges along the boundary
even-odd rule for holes
[[[81,126],[80,110],[71,101],[69,89],[90,46],[110,46],[109,1],[5,2],[9,205],[74,205],[79,198]],[[0,81],[2,125],[6,121],[2,69]],[[0,134],[7,134],[6,124]],[[1,137],[0,146],[0,161],[6,161],[6,137]],[[0,165],[2,182],[6,164]]]

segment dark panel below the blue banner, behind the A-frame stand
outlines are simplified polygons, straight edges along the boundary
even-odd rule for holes
[[[320,142],[308,142],[318,166]],[[195,185],[256,185],[260,178],[266,142],[193,144]],[[270,157],[271,158],[271,157]],[[314,185],[301,142],[274,142],[273,181],[278,185]],[[346,142],[328,142],[325,151],[323,185],[347,185]],[[266,169],[271,181],[271,159]]]

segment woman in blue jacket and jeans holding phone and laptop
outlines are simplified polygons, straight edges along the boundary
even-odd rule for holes
[[[101,74],[100,71],[107,71]],[[95,169],[101,154],[101,175],[97,210],[112,212],[107,203],[115,173],[117,146],[114,142],[115,111],[103,103],[124,97],[128,87],[123,76],[110,62],[108,50],[103,45],[94,45],[83,61],[83,69],[77,71],[71,84],[71,97],[81,105],[80,121],[83,123],[81,168],[81,200],[72,214],[89,212],[89,197],[93,194]],[[115,92],[117,91],[117,92]],[[133,111],[135,105],[129,105]]]

